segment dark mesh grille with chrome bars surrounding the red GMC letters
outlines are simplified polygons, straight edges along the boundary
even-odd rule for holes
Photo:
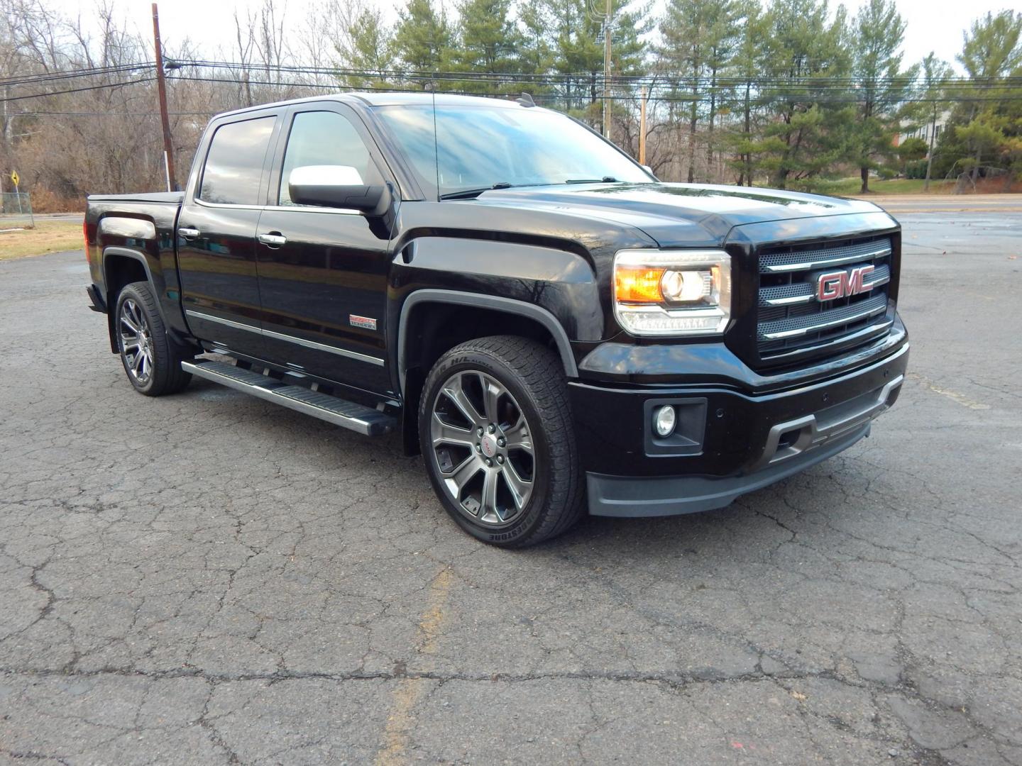
[[[891,279],[890,237],[856,240],[816,248],[765,250],[759,255],[756,344],[763,361],[780,361],[886,333]],[[823,274],[872,266],[865,284],[872,289],[821,300]]]

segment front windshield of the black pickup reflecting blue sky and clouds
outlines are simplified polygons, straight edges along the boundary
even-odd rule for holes
[[[638,164],[573,119],[535,107],[382,106],[377,113],[429,196],[495,185],[536,186],[604,179],[649,183]]]

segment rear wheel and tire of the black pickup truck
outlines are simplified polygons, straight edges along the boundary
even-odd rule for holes
[[[118,295],[114,312],[121,364],[135,390],[146,396],[183,390],[191,374],[181,369],[181,362],[192,354],[168,336],[149,283],[126,285]]]

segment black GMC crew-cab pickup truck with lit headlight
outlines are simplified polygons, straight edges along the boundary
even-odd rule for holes
[[[497,545],[727,506],[866,436],[909,357],[887,213],[660,183],[527,98],[221,114],[183,194],[90,196],[85,237],[140,393],[400,432]]]

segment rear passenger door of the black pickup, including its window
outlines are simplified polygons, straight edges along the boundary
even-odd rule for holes
[[[178,219],[181,300],[196,337],[259,356],[256,227],[265,199],[275,114],[260,113],[215,128],[199,179]]]

